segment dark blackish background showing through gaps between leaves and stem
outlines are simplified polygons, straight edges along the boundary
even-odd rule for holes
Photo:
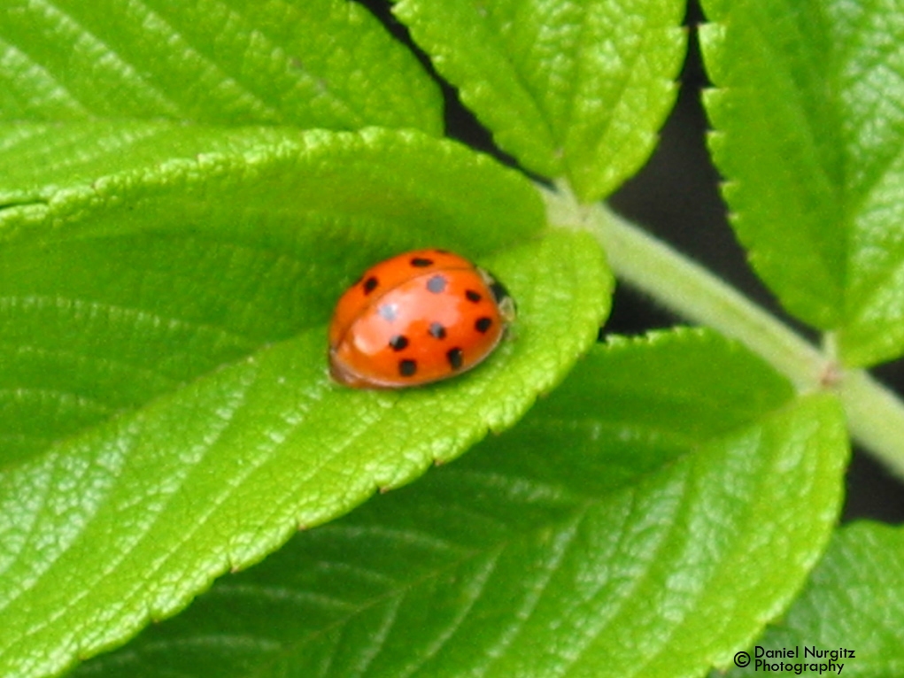
[[[361,1],[387,25],[391,33],[411,46],[405,28],[391,15],[389,0]],[[700,93],[709,85],[696,40],[695,29],[702,21],[699,6],[692,2],[685,20],[690,49],[681,74],[681,89],[675,108],[665,123],[654,155],[609,202],[617,212],[643,224],[648,231],[672,243],[677,250],[691,255],[798,332],[816,340],[815,333],[782,311],[775,297],[754,275],[726,220],[726,206],[719,193],[720,176],[711,165],[706,150],[707,121],[700,103]],[[494,146],[489,133],[461,105],[455,90],[437,76],[426,57],[413,49],[443,87],[447,105],[447,135],[495,155],[508,165],[515,165],[511,157]],[[681,318],[655,306],[645,297],[619,286],[605,331],[643,334],[650,329],[671,327],[681,322]],[[904,393],[904,363],[899,361],[882,365],[874,373],[895,391]],[[856,518],[874,518],[890,523],[904,521],[904,485],[855,447],[848,470],[848,495],[843,520]]]

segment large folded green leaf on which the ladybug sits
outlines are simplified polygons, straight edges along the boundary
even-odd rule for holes
[[[137,129],[80,142],[68,184],[24,172],[22,200],[0,210],[2,675],[118,645],[299,525],[511,426],[607,311],[593,240],[542,230],[532,185],[463,146]],[[27,154],[56,131],[22,135]],[[335,298],[375,259],[426,244],[504,280],[511,340],[428,388],[329,381]]]

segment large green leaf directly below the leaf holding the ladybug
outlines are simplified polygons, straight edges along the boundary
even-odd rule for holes
[[[846,458],[833,397],[737,344],[616,340],[517,428],[74,675],[700,675],[803,584]]]

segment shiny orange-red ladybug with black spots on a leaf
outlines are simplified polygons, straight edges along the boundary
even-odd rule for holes
[[[493,352],[514,302],[483,268],[416,250],[369,268],[336,304],[330,374],[354,389],[399,389],[466,372]]]

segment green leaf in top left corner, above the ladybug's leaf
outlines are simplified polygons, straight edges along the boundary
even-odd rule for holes
[[[413,54],[345,0],[5,0],[0,63],[5,121],[443,129]]]

